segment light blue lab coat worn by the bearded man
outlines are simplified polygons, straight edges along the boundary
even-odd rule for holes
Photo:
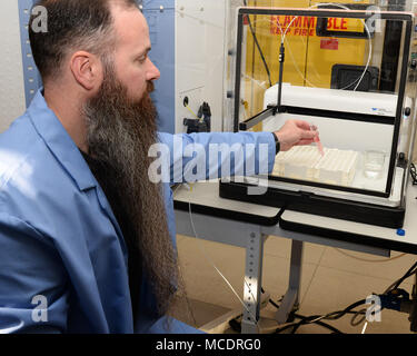
[[[159,137],[173,145],[175,136]],[[205,148],[210,142],[268,144],[272,169],[271,134],[181,138]],[[181,155],[172,154],[171,165]],[[207,164],[207,176],[216,169]],[[175,244],[168,184],[165,202]],[[197,332],[178,320],[165,329],[146,274],[133,326],[127,264],[122,233],[101,187],[39,91],[0,135],[0,333]]]

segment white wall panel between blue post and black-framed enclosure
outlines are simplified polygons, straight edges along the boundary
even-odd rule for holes
[[[225,0],[176,1],[176,132],[202,101],[211,108],[211,130],[222,130]]]

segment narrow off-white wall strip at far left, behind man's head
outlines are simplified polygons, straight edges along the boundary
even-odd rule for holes
[[[26,110],[17,0],[0,1],[0,132]]]

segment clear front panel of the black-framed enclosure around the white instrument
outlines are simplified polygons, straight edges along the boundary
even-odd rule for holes
[[[401,189],[405,174],[396,167],[398,139],[410,130],[401,123],[403,103],[409,102],[414,110],[414,101],[404,96],[406,21],[380,14],[367,19],[365,12],[359,19],[340,11],[318,13],[241,18],[235,120],[247,121],[277,105],[284,43],[285,112],[270,115],[251,129],[275,131],[288,119],[301,119],[318,128],[320,142],[280,152],[272,178],[389,196],[391,188]],[[399,147],[408,156],[404,140]]]

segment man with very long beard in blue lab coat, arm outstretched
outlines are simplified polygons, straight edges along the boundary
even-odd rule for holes
[[[172,136],[157,134],[146,20],[133,0],[38,4],[48,32],[30,41],[44,88],[0,137],[0,332],[195,333],[166,318],[182,285],[171,191],[148,177],[150,147]],[[316,137],[304,121],[183,136],[254,155],[268,145],[269,168],[277,142]]]

